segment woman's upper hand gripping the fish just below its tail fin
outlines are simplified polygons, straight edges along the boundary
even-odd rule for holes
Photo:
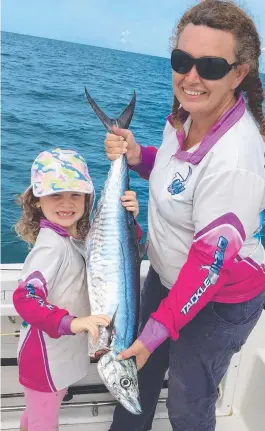
[[[141,147],[136,143],[132,132],[115,126],[113,132],[114,134],[106,134],[104,142],[108,159],[116,160],[121,154],[126,154],[129,165],[138,165],[141,162]]]

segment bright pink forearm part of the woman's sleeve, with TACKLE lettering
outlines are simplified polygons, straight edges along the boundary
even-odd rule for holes
[[[177,282],[157,311],[151,314],[153,319],[168,329],[173,340],[178,338],[179,330],[192,320],[226,283],[229,268],[223,263],[227,248],[226,239],[221,237],[217,241],[213,261],[200,250],[199,244],[193,243]]]

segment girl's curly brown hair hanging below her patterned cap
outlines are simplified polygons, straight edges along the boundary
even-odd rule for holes
[[[27,189],[18,196],[17,203],[22,208],[22,216],[15,225],[17,235],[29,244],[34,244],[40,231],[40,220],[45,218],[41,208],[38,208],[36,198],[32,193],[32,188]],[[85,211],[77,222],[77,233],[81,239],[85,239],[89,228],[90,195],[85,195]]]

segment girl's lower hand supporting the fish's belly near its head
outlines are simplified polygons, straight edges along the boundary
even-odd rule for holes
[[[104,314],[94,316],[76,317],[70,323],[70,329],[73,334],[80,332],[90,332],[93,343],[97,343],[99,337],[99,326],[108,326],[111,318]]]

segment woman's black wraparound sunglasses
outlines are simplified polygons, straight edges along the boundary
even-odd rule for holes
[[[175,72],[185,74],[196,65],[200,77],[210,81],[223,78],[237,64],[228,64],[224,58],[220,57],[194,58],[181,49],[174,49],[171,54],[171,67]]]

